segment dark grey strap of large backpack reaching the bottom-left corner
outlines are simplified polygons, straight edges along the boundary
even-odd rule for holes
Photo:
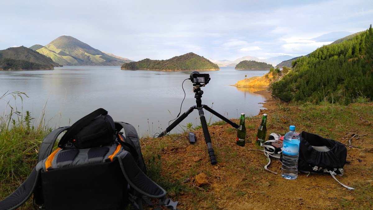
[[[27,177],[25,182],[19,186],[16,191],[0,201],[0,210],[12,210],[17,209],[23,203],[25,203],[37,185],[38,178],[40,177],[40,170],[34,168],[31,174]]]

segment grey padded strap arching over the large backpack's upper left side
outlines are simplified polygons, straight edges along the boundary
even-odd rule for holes
[[[56,142],[57,137],[65,130],[68,130],[69,127],[70,126],[60,127],[48,133],[48,135],[43,139],[43,142],[41,142],[39,148],[38,162],[44,160],[51,154],[54,142]]]

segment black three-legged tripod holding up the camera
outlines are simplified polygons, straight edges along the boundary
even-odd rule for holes
[[[209,133],[209,129],[207,128],[206,118],[204,116],[203,109],[206,109],[207,111],[209,111],[212,114],[216,115],[220,119],[226,121],[228,124],[230,124],[232,127],[236,128],[236,129],[238,129],[239,126],[236,123],[234,123],[231,120],[229,120],[228,118],[226,118],[223,115],[221,115],[218,112],[216,112],[214,109],[211,109],[209,106],[202,104],[201,98],[202,98],[203,90],[201,90],[200,87],[193,87],[193,92],[194,92],[195,101],[197,102],[197,106],[194,105],[191,108],[189,108],[188,111],[184,112],[180,117],[178,117],[158,137],[162,137],[166,133],[170,132],[181,121],[183,121],[194,109],[198,109],[198,113],[200,114],[200,120],[201,120],[203,135],[205,137],[205,141],[206,141],[206,144],[207,144],[207,152],[209,152],[209,155],[210,155],[211,165],[215,165],[216,164],[216,159],[215,159],[214,149],[212,148],[212,145],[211,145],[210,133]]]

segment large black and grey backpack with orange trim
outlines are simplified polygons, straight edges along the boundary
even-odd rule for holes
[[[102,108],[49,133],[40,145],[37,166],[0,201],[0,210],[16,209],[32,194],[38,209],[115,210],[129,203],[142,209],[142,201],[154,205],[148,198],[171,209],[178,204],[146,175],[136,129],[114,122]]]

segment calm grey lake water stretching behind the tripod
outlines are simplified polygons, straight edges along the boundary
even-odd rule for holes
[[[257,115],[260,102],[266,97],[253,92],[261,89],[238,89],[233,86],[238,80],[262,76],[268,70],[235,70],[220,67],[219,71],[201,71],[210,74],[211,80],[204,91],[202,103],[212,106],[228,118],[239,118],[241,113]],[[25,92],[23,111],[32,112],[35,121],[45,105],[47,123],[52,127],[73,124],[76,120],[97,108],[104,108],[115,121],[130,123],[141,135],[163,131],[168,121],[176,117],[184,98],[182,82],[191,71],[163,72],[146,70],[120,70],[118,66],[66,66],[55,70],[0,71],[0,95],[10,92]],[[195,105],[192,82],[186,80],[185,101],[181,113]],[[7,97],[6,100],[13,100]],[[14,104],[14,103],[13,103]],[[21,102],[17,101],[18,108]],[[6,101],[0,102],[5,111]],[[207,121],[211,114],[205,111]],[[219,119],[212,116],[211,123]],[[197,111],[189,114],[181,123],[200,125]],[[175,132],[181,132],[176,127]]]

